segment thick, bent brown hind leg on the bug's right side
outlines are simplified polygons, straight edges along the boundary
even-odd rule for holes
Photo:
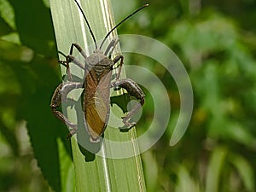
[[[123,123],[127,126],[127,129],[131,129],[134,125],[136,125],[135,122],[130,122],[131,117],[140,109],[143,107],[144,101],[145,101],[145,94],[143,93],[143,90],[139,87],[139,85],[131,80],[131,79],[119,79],[113,83],[111,83],[111,87],[113,87],[115,90],[118,90],[120,88],[124,88],[127,90],[128,94],[130,96],[134,96],[137,98],[137,100],[140,100],[137,105],[135,105],[131,111],[128,112],[128,114],[123,118]]]

